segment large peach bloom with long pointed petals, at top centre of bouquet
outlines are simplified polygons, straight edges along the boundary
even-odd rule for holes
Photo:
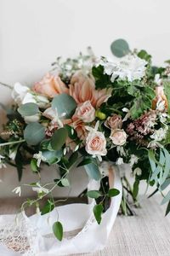
[[[77,72],[71,78],[69,94],[78,104],[89,101],[94,108],[99,108],[111,96],[111,90],[96,90],[92,77]]]

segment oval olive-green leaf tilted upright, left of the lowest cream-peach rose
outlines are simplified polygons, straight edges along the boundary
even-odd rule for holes
[[[60,128],[59,130],[54,131],[53,137],[51,137],[51,146],[54,150],[59,150],[66,141],[67,131],[65,128]]]

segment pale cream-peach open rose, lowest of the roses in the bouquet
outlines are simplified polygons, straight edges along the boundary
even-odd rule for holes
[[[107,154],[105,135],[100,131],[90,131],[86,139],[86,151],[94,156]]]

